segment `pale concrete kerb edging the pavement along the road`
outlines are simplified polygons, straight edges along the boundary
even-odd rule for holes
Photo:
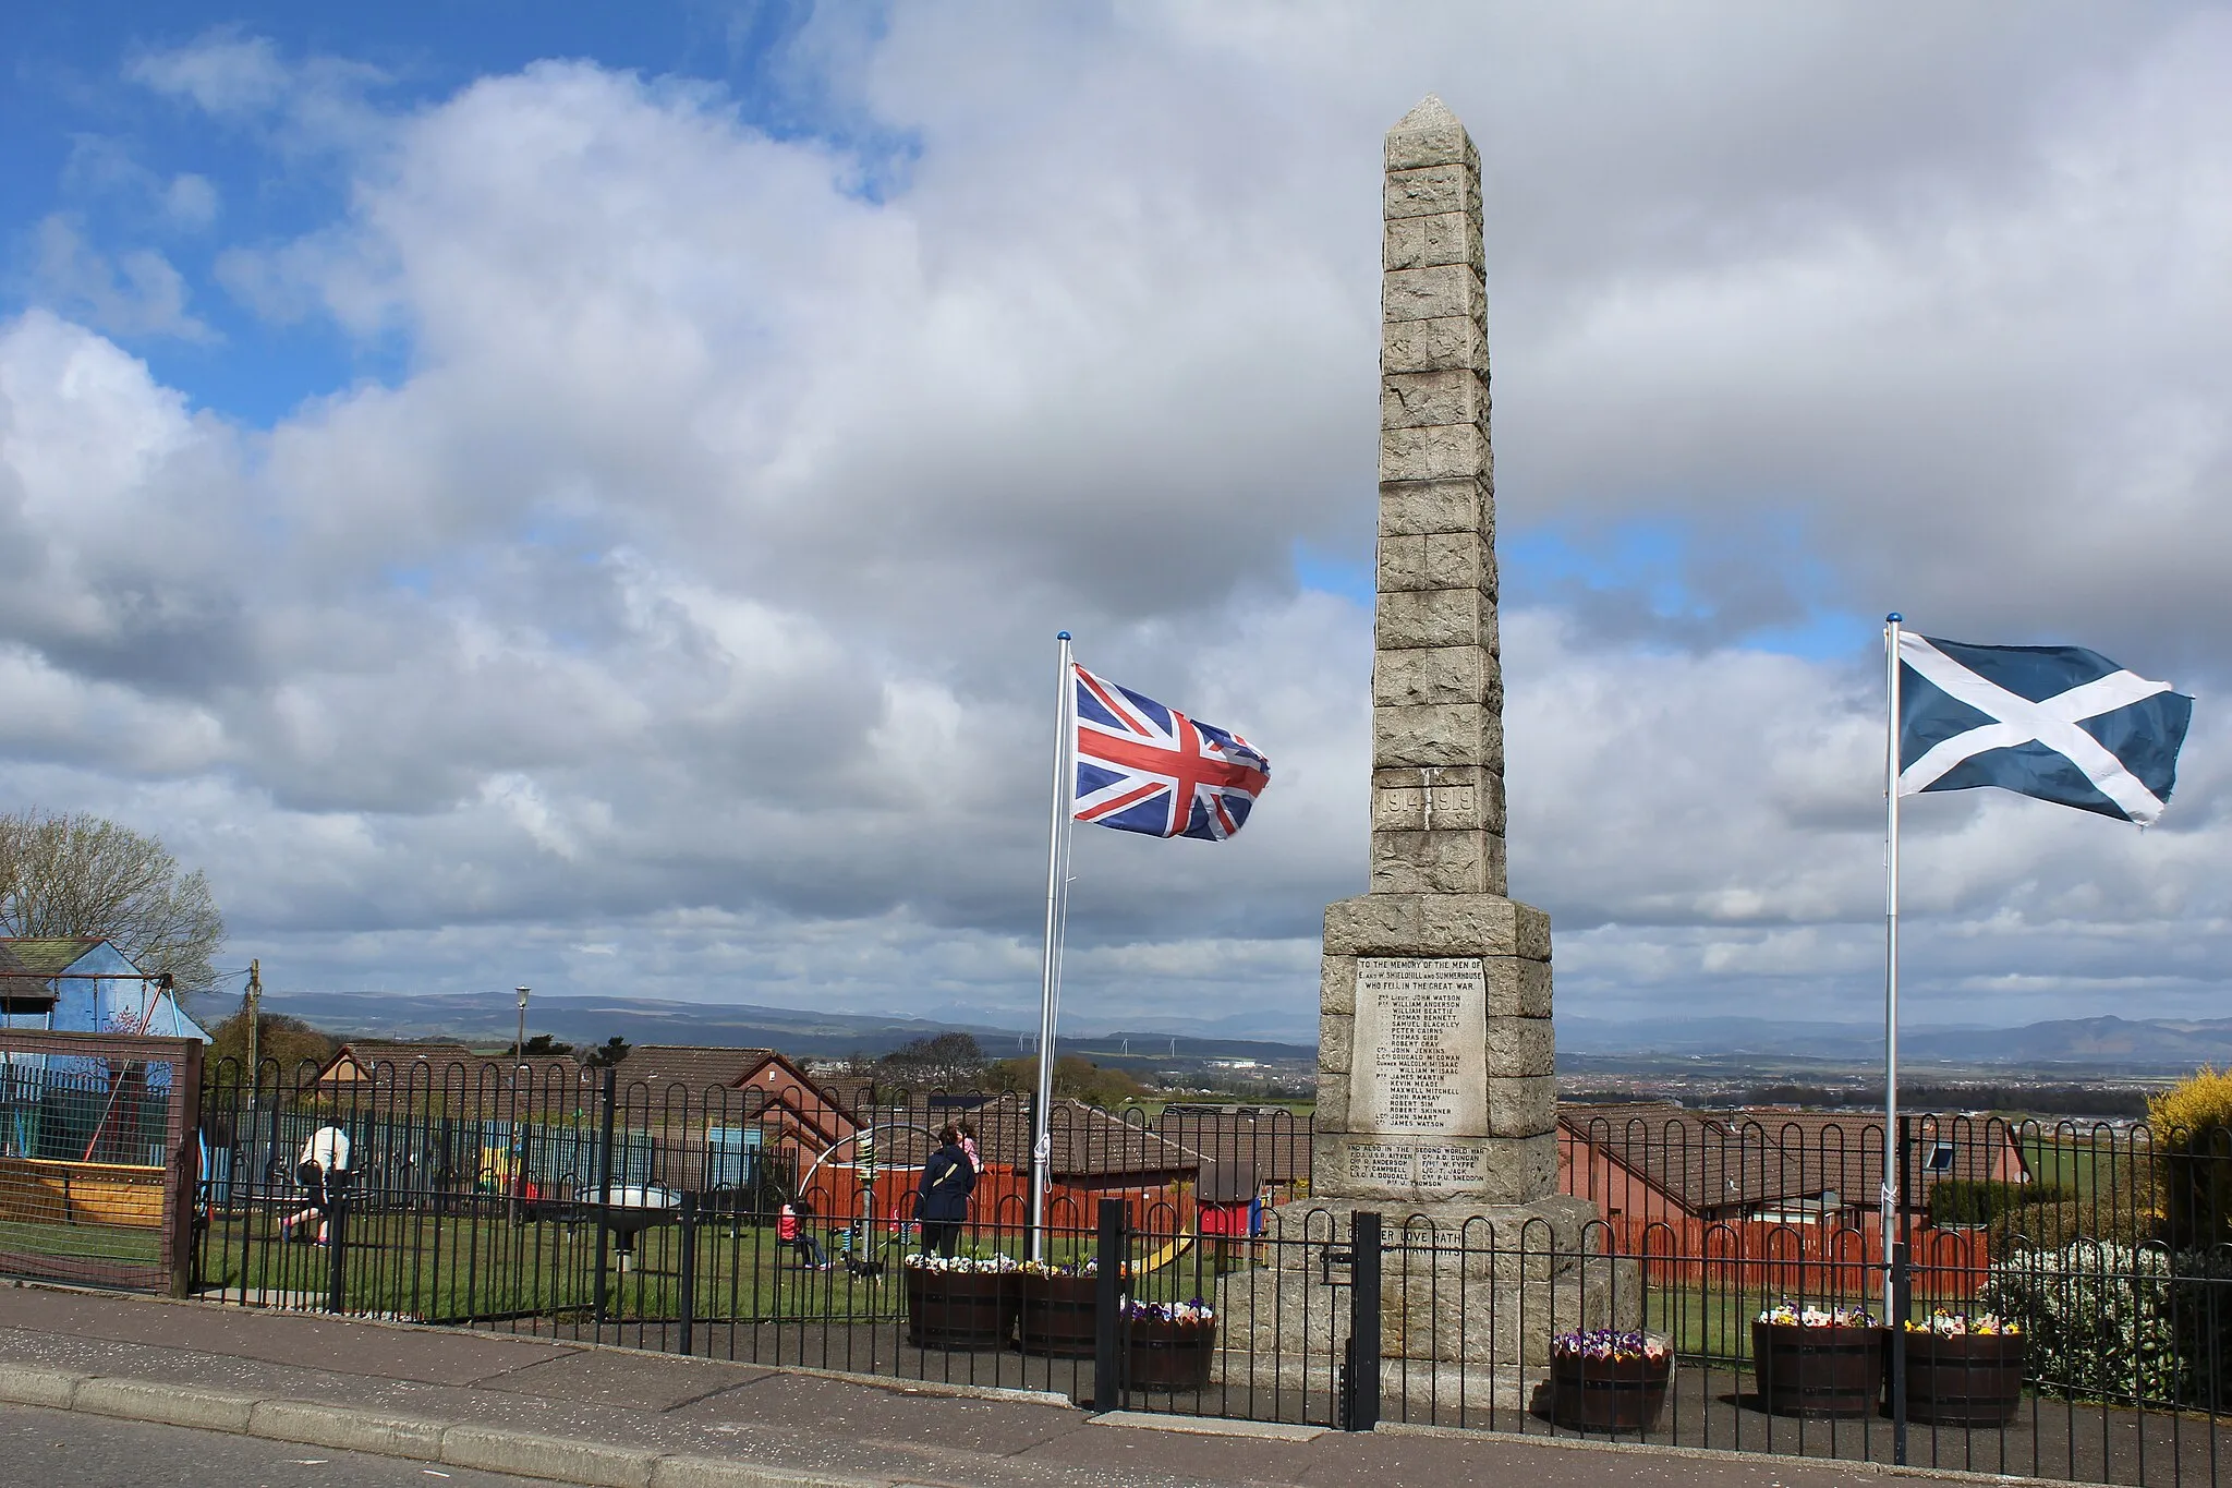
[[[0,1365],[0,1401],[596,1488],[893,1488],[897,1481],[795,1472],[721,1457],[645,1452],[464,1421],[415,1421],[317,1401],[261,1399],[29,1365]]]

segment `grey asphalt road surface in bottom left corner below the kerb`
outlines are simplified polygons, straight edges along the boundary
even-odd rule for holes
[[[183,1426],[0,1405],[0,1479],[36,1488],[549,1488],[540,1479],[429,1468]]]

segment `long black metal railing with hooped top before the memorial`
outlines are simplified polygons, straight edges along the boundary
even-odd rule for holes
[[[949,1122],[982,1173],[924,1265]],[[1308,1115],[1060,1102],[1033,1231],[1011,1091],[221,1064],[201,1129],[194,1287],[232,1303],[1348,1430],[2118,1484],[2219,1484],[2232,1448],[2225,1131],[1567,1107],[1556,1196],[1451,1218],[1312,1194]]]

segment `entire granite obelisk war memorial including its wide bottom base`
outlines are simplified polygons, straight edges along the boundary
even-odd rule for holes
[[[1594,1209],[1556,1194],[1549,917],[1507,897],[1480,154],[1433,96],[1386,136],[1379,286],[1370,890],[1326,908],[1312,1194],[1274,1234],[1379,1211],[1382,1354],[1502,1376],[1540,1365],[1553,1325],[1623,1318],[1609,1265],[1585,1287],[1549,1260]],[[1270,1274],[1223,1287],[1228,1383],[1270,1354],[1301,1383],[1283,1370],[1324,1368],[1303,1359],[1346,1332],[1319,1247],[1270,1249]]]

